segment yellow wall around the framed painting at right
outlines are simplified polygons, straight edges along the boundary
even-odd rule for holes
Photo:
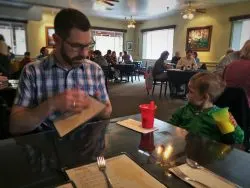
[[[208,9],[206,14],[196,14],[191,21],[182,19],[178,13],[161,19],[145,21],[138,29],[177,25],[174,37],[174,51],[180,51],[182,55],[185,55],[187,28],[212,25],[210,52],[199,52],[199,57],[202,62],[214,63],[230,46],[231,22],[229,17],[249,14],[249,7],[250,2],[215,7]],[[142,57],[142,34],[140,32],[137,34],[136,39],[140,44],[136,48],[135,54],[139,54],[139,57]]]

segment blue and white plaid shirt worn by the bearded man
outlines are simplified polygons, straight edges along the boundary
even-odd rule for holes
[[[34,108],[48,98],[73,88],[79,88],[92,96],[99,91],[100,101],[109,100],[100,66],[83,60],[79,67],[66,70],[56,64],[56,58],[51,54],[42,61],[24,67],[14,104]],[[60,115],[59,112],[54,112],[48,119],[54,120]]]

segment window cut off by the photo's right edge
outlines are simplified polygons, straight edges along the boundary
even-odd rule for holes
[[[244,43],[250,39],[250,19],[233,22],[231,48],[240,50]]]

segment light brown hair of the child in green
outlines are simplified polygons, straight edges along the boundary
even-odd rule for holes
[[[208,94],[211,102],[215,102],[226,87],[226,83],[219,75],[209,72],[195,74],[190,79],[190,82],[192,82],[194,88],[197,89],[201,95]]]

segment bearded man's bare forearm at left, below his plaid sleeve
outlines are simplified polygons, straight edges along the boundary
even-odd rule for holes
[[[11,134],[22,134],[36,129],[53,112],[49,101],[29,109],[14,106],[10,116]]]

